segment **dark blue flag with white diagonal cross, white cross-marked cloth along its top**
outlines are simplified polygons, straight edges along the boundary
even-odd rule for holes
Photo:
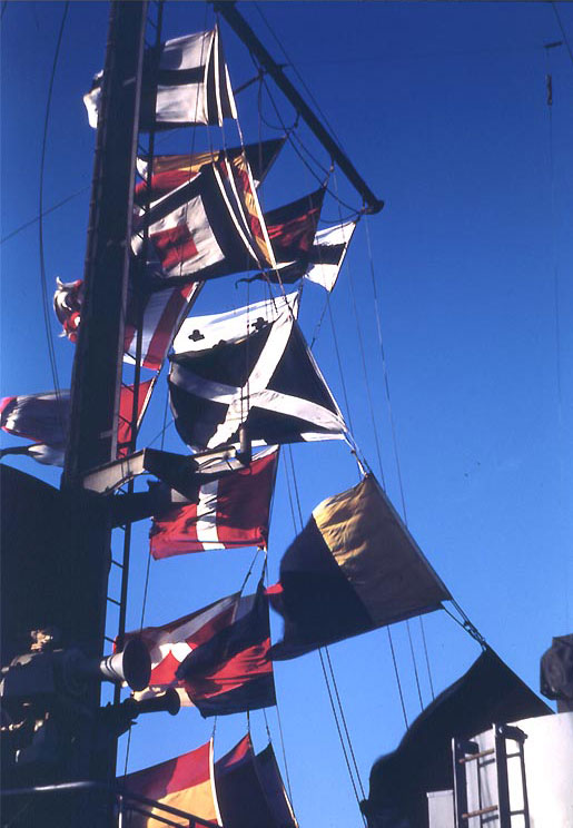
[[[295,321],[298,295],[186,319],[175,338],[169,394],[185,443],[217,448],[344,438],[343,415]]]

